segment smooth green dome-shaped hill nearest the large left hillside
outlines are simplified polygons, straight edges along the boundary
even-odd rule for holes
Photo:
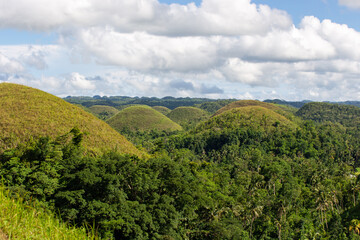
[[[180,125],[160,112],[144,105],[125,108],[108,119],[107,123],[118,131],[124,128],[133,131],[146,131],[151,129],[176,131],[182,129]]]

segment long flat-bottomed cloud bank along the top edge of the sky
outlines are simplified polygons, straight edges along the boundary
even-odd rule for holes
[[[38,31],[112,26],[157,35],[241,35],[291,25],[286,12],[250,0],[203,0],[199,7],[157,0],[0,0],[0,5],[0,26]]]

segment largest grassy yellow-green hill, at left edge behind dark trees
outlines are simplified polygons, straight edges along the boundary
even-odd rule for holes
[[[117,148],[142,155],[124,136],[90,113],[46,92],[10,83],[0,84],[0,150],[31,138],[57,137],[78,127],[92,152]]]

